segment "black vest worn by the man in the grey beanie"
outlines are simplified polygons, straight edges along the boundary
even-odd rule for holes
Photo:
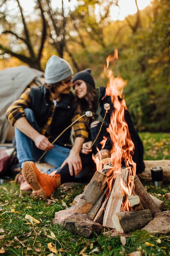
[[[31,106],[35,119],[42,128],[48,120],[51,111],[51,101],[49,97],[49,90],[44,86],[39,88],[31,88],[30,98]],[[61,100],[57,102],[51,124],[47,130],[52,142],[67,126],[71,124],[75,112],[75,96],[72,92],[69,94],[61,94]],[[56,141],[56,144],[70,147],[70,132],[71,128],[66,130],[64,134]]]

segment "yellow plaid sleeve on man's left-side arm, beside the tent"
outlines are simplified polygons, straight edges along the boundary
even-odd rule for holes
[[[20,117],[24,117],[24,108],[30,106],[30,88],[27,88],[20,96],[20,98],[7,109],[6,115],[11,125],[15,124],[15,121]]]

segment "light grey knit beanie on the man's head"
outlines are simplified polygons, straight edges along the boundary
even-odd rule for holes
[[[49,58],[45,68],[45,82],[58,83],[73,75],[71,65],[56,55]]]

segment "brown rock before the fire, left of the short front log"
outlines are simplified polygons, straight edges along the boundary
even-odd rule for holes
[[[90,220],[84,213],[74,213],[65,218],[62,227],[86,238],[91,238],[94,232],[100,234],[103,229],[102,225]]]

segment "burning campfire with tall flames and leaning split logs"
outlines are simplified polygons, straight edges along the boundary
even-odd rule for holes
[[[112,58],[109,56],[106,68],[110,60]],[[73,215],[76,221],[79,218],[84,219],[86,214],[88,219],[93,223],[99,223],[101,227],[128,232],[141,229],[161,210],[136,175],[136,164],[132,160],[134,144],[124,119],[127,107],[125,100],[122,99],[122,92],[126,82],[120,77],[114,78],[110,70],[108,77],[106,94],[111,97],[115,108],[107,130],[113,148],[109,158],[93,156],[96,172],[77,204],[70,211],[65,210],[64,216],[71,216],[73,223]],[[107,138],[104,138],[101,142],[103,147],[106,140]],[[79,214],[82,214],[82,217]],[[56,213],[53,222],[59,223],[58,219],[61,220],[61,216],[62,213]]]

